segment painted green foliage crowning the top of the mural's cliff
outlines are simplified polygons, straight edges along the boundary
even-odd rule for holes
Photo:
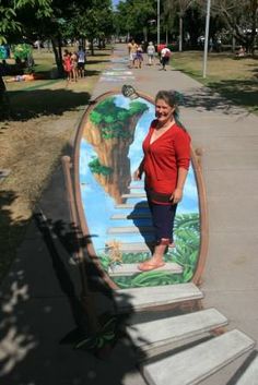
[[[91,112],[90,120],[98,127],[105,140],[130,137],[129,121],[132,116],[143,113],[148,106],[141,101],[131,101],[129,109],[115,105],[115,97],[99,103]]]

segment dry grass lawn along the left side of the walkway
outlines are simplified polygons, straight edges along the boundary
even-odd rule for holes
[[[87,58],[86,76],[77,83],[40,80],[7,83],[10,120],[0,122],[0,281],[7,274],[33,215],[62,155],[71,152],[80,118],[110,50]],[[34,52],[36,71],[49,72],[54,57]]]

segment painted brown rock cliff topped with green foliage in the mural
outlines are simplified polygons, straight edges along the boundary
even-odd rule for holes
[[[84,137],[96,153],[89,163],[91,171],[104,190],[122,202],[131,181],[129,146],[134,137],[138,120],[148,110],[141,101],[131,101],[129,108],[116,105],[115,98],[101,101],[90,113]]]

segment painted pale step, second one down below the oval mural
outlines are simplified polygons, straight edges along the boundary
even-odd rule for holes
[[[133,321],[133,320],[132,320]],[[203,334],[227,325],[226,317],[215,309],[132,324],[127,333],[139,352],[153,356],[196,340]]]

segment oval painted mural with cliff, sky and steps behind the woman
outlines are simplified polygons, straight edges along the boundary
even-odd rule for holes
[[[86,110],[75,141],[75,203],[87,252],[116,288],[199,281],[207,253],[207,215],[199,163],[191,166],[175,220],[175,249],[161,269],[141,273],[150,257],[153,228],[142,181],[132,175],[154,119],[151,98],[119,92],[98,97]]]

